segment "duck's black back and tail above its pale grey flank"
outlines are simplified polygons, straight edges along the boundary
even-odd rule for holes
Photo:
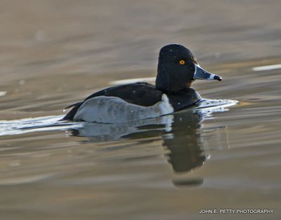
[[[68,109],[70,107],[73,108],[62,120],[73,120],[73,117],[79,109],[79,106],[81,106],[81,104],[83,104],[86,100],[93,97],[119,97],[131,104],[137,104],[140,106],[152,106],[153,104],[161,101],[162,95],[163,93],[160,90],[157,90],[154,85],[150,85],[149,83],[130,83],[126,85],[117,85],[95,92],[89,97],[86,97],[83,102],[77,102],[75,104],[67,106],[67,108],[65,109]]]

